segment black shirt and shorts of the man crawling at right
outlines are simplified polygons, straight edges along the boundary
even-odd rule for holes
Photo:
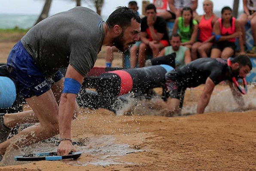
[[[165,75],[166,86],[171,98],[180,99],[180,108],[183,105],[185,90],[187,87],[197,87],[205,84],[209,77],[214,84],[229,79],[227,60],[217,58],[200,58],[188,63],[180,69],[174,69]]]

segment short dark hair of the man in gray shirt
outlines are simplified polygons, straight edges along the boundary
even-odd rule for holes
[[[119,25],[123,29],[131,26],[131,20],[134,19],[138,23],[141,23],[140,16],[131,9],[126,6],[118,6],[116,10],[110,14],[108,17],[106,24],[108,27],[114,27],[115,25]]]

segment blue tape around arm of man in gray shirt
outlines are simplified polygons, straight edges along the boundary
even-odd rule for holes
[[[78,94],[81,84],[73,78],[65,78],[62,93]]]

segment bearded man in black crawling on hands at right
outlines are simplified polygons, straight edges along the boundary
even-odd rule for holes
[[[246,55],[235,57],[231,61],[231,71],[227,60],[217,58],[200,58],[188,63],[180,69],[174,69],[165,75],[166,87],[169,91],[168,95],[168,116],[179,114],[183,105],[185,90],[187,87],[197,87],[200,84],[205,84],[204,90],[198,101],[197,113],[204,113],[205,107],[208,105],[210,96],[215,85],[224,80],[231,80],[231,75],[236,78],[245,78],[252,69],[250,58]],[[229,84],[232,88],[233,96],[240,96],[240,93]],[[235,98],[238,105],[243,105],[242,98]]]

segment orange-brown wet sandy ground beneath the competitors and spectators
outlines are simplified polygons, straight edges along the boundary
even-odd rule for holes
[[[22,35],[0,39],[0,63]],[[95,66],[104,66],[103,48]],[[116,54],[114,66],[122,66]],[[83,141],[77,160],[15,162],[21,153],[57,150],[39,143],[8,149],[0,171],[256,171],[256,89],[244,96],[238,110],[229,87],[215,87],[205,114],[195,114],[204,85],[186,90],[183,116],[164,117],[165,103],[143,100],[130,116],[105,109],[88,110],[72,121],[73,141]],[[160,92],[160,89],[155,89]]]

